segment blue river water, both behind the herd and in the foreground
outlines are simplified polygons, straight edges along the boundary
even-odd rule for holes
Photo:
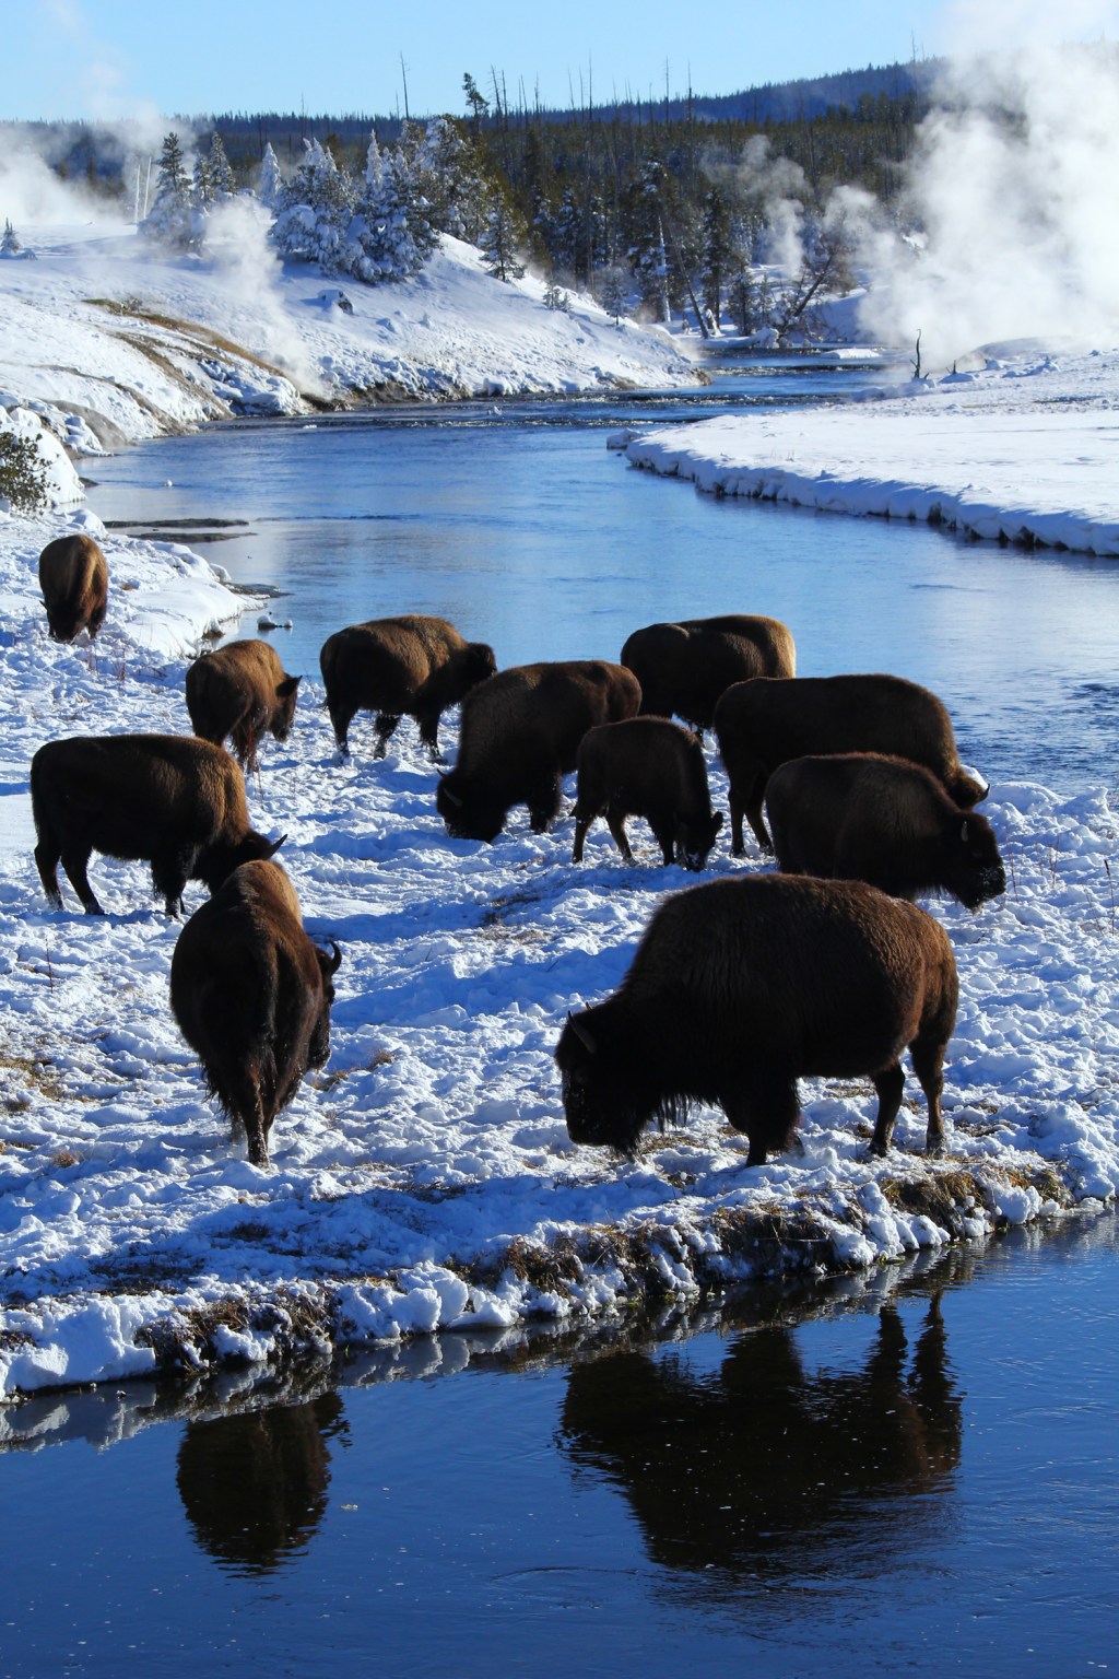
[[[233,423],[99,462],[91,507],[220,537],[205,552],[273,591],[272,638],[315,678],[332,630],[396,611],[503,665],[762,611],[805,675],[934,687],[993,779],[1109,786],[1114,562],[718,502],[606,448],[872,378],[797,361],[686,398]],[[1106,1669],[1116,1246],[1084,1212],[721,1313],[42,1395],[0,1417],[0,1679]]]

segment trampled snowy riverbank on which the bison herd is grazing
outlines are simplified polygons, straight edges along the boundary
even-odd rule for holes
[[[599,1315],[871,1264],[1119,1189],[1119,826],[1102,789],[997,784],[1007,897],[975,918],[934,905],[963,982],[946,1160],[919,1152],[913,1085],[896,1153],[871,1162],[871,1086],[820,1081],[804,1088],[804,1155],[747,1169],[742,1138],[703,1111],[619,1164],[570,1145],[552,1049],[565,1011],[617,982],[659,895],[691,878],[626,870],[602,824],[574,868],[570,821],[539,838],[523,811],[495,846],[448,840],[414,732],[374,764],[356,730],[339,766],[310,678],[250,809],[289,833],[309,927],[344,964],[330,1061],[277,1122],[275,1169],[255,1170],[173,1024],[178,927],[148,871],[96,858],[106,918],[77,913],[69,888],[50,912],[27,808],[44,739],[183,730],[186,650],[242,603],[183,549],[106,539],[106,630],[94,650],[55,646],[35,557],[64,526],[0,519],[15,700],[0,749],[0,1392]],[[715,762],[711,779],[725,804]],[[643,829],[638,843],[649,863]],[[758,866],[713,856],[716,873]],[[188,907],[201,897],[188,888]]]

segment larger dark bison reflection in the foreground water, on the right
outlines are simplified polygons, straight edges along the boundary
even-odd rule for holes
[[[938,1298],[913,1353],[893,1305],[861,1368],[807,1370],[770,1323],[713,1375],[686,1352],[579,1363],[562,1414],[564,1451],[626,1494],[651,1560],[706,1580],[827,1575],[839,1550],[844,1573],[893,1567],[899,1535],[943,1523],[961,1432]]]

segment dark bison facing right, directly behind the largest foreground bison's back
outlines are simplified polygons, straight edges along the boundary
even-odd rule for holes
[[[991,824],[961,811],[921,764],[794,757],[770,776],[765,809],[787,875],[866,880],[894,898],[943,890],[970,910],[1007,890]]]

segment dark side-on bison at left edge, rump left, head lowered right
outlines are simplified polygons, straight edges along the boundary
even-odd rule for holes
[[[86,865],[91,851],[151,863],[168,915],[188,880],[215,892],[238,863],[267,858],[284,840],[248,826],[245,779],[226,751],[191,735],[75,735],[32,759],[35,863],[62,907],[59,861],[89,915],[102,915]]]

